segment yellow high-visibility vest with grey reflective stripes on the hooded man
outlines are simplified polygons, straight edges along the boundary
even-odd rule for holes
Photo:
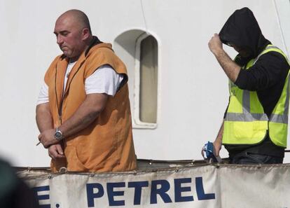
[[[250,60],[244,69],[252,67],[261,55],[275,51],[286,55],[279,48],[268,45],[256,59]],[[290,72],[290,71],[289,71]],[[282,94],[270,118],[265,114],[256,91],[241,90],[229,83],[230,102],[223,122],[223,144],[258,144],[269,131],[270,139],[277,146],[286,148],[289,112],[289,73]]]

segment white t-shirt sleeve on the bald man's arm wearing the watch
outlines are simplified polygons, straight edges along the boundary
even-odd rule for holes
[[[106,93],[114,96],[123,81],[124,75],[116,73],[109,65],[99,67],[85,79],[85,93]]]

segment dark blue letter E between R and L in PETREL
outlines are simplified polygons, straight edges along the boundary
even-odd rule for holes
[[[181,187],[181,183],[191,183],[191,178],[174,179],[174,197],[175,202],[191,202],[193,196],[181,196],[182,192],[191,191],[191,186]]]

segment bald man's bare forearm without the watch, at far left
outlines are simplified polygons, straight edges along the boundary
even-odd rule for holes
[[[38,104],[36,106],[36,124],[39,132],[53,128],[53,118],[50,114],[49,104]]]

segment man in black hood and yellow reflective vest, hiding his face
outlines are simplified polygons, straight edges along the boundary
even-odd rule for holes
[[[223,50],[232,46],[235,60]],[[289,111],[289,62],[265,39],[249,8],[235,11],[209,50],[229,78],[230,100],[214,141],[219,155],[223,144],[235,164],[282,163]]]

